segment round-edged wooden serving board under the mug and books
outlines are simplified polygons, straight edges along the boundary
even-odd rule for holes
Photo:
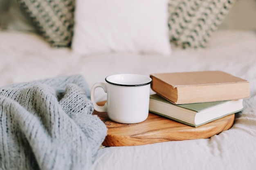
[[[99,106],[104,104],[98,103]],[[107,113],[96,110],[93,114],[98,115],[108,128],[103,146],[137,146],[164,141],[207,139],[231,128],[235,119],[235,114],[232,114],[194,128],[152,113],[148,114],[145,121],[137,124],[117,123],[110,120]]]

